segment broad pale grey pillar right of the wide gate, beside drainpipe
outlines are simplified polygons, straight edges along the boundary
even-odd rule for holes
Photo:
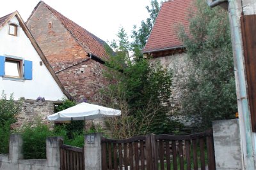
[[[243,169],[239,120],[219,120],[212,124],[216,169]]]

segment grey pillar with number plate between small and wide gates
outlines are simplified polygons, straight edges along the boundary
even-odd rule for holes
[[[84,169],[101,170],[101,133],[84,136]]]

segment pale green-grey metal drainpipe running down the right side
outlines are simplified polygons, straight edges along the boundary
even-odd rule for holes
[[[243,118],[244,118],[244,129],[245,129],[245,138],[246,138],[246,169],[255,169],[254,160],[253,160],[253,146],[252,146],[252,130],[250,127],[250,110],[248,105],[248,99],[246,94],[246,80],[244,75],[244,65],[243,65],[243,46],[241,41],[241,36],[239,34],[240,29],[237,23],[236,16],[236,5],[234,3],[235,0],[227,0],[228,1],[228,11],[230,13],[230,24],[232,29],[232,38],[233,38],[233,48],[235,48],[235,56],[234,60],[236,60],[237,64],[237,75],[239,82],[239,97],[238,103],[241,103]],[[241,0],[243,1],[243,0]],[[207,1],[208,5],[211,7],[217,6],[218,4],[224,3],[225,0],[217,0],[214,2]]]

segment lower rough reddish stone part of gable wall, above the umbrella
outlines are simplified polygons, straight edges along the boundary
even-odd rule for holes
[[[65,89],[77,101],[87,99],[89,102],[101,103],[99,90],[106,85],[102,71],[104,67],[95,60],[86,60],[58,73]]]

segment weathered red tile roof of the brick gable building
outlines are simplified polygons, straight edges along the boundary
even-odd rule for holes
[[[40,3],[43,3],[44,6],[48,8],[52,12],[52,14],[56,18],[58,18],[58,20],[61,21],[61,24],[63,24],[63,26],[70,32],[70,34],[72,34],[76,41],[81,46],[83,46],[84,50],[87,53],[92,53],[93,55],[96,55],[102,60],[108,59],[108,54],[106,53],[104,47],[106,45],[105,41],[93,35],[91,32],[86,31],[86,29],[76,24],[72,20],[68,19],[67,17],[63,16],[61,13],[51,8],[51,6],[45,4],[44,1],[40,1]],[[38,3],[38,5],[40,3]],[[31,15],[33,15],[33,13]]]

